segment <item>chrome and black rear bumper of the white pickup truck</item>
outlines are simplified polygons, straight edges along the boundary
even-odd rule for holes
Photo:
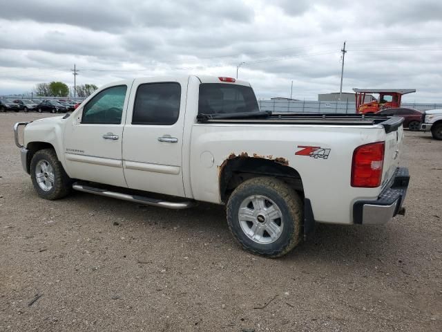
[[[353,222],[365,225],[382,225],[401,212],[407,194],[410,175],[408,169],[396,169],[390,184],[376,201],[356,201],[353,205]]]

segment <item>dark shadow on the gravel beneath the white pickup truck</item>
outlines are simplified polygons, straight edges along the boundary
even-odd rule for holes
[[[160,227],[162,232],[180,232],[181,237],[191,237],[198,233],[198,238],[204,242],[215,242],[215,245],[227,244],[236,254],[249,255],[241,250],[234,241],[227,226],[225,207],[209,203],[199,203],[188,210],[166,210],[147,205],[137,205],[117,201],[90,194],[75,193],[69,201],[84,205],[86,210],[97,207],[115,216],[115,219],[131,220],[131,225],[148,225]],[[102,222],[102,221],[99,221]],[[394,223],[395,221],[392,221]],[[125,227],[124,222],[122,227]],[[178,230],[176,230],[178,228]],[[149,232],[150,230],[146,230]],[[397,245],[398,241],[406,241],[400,230],[387,226],[366,225],[327,225],[316,224],[314,234],[306,241],[282,258],[283,261],[319,260],[345,261],[355,263],[390,256],[388,252]],[[398,234],[399,233],[399,234]],[[216,243],[216,242],[219,243]],[[224,249],[220,249],[224,250]],[[390,251],[391,252],[391,251]],[[222,254],[220,254],[222,255]]]

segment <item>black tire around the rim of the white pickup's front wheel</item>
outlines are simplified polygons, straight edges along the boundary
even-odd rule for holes
[[[37,182],[37,165],[43,160],[46,161],[53,170],[54,181],[50,190],[43,190]],[[64,171],[63,166],[57,158],[54,149],[43,149],[37,151],[30,162],[30,177],[32,179],[32,185],[34,185],[37,194],[50,201],[55,199],[61,199],[64,196],[70,194],[72,190],[72,180],[68,174]]]

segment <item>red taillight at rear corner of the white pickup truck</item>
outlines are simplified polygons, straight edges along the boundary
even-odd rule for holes
[[[352,187],[375,188],[381,185],[385,142],[356,147],[352,161]]]

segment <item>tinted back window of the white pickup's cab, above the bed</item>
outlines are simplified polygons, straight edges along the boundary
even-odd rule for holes
[[[241,113],[259,111],[255,93],[250,86],[200,84],[198,114]]]

